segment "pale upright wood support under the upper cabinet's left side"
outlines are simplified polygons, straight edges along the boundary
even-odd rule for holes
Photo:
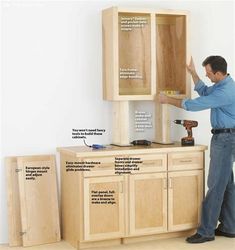
[[[113,102],[113,144],[130,145],[129,101]]]

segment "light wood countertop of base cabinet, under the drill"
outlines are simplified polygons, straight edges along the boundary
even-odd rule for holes
[[[151,153],[171,153],[171,152],[193,152],[204,151],[208,147],[205,145],[195,146],[181,146],[180,142],[174,142],[173,144],[163,145],[152,143],[151,146],[129,146],[118,147],[113,145],[106,145],[102,149],[92,149],[85,146],[71,146],[71,147],[59,147],[57,151],[63,154],[68,154],[75,157],[84,156],[109,156],[109,155],[134,155],[134,154],[151,154]]]

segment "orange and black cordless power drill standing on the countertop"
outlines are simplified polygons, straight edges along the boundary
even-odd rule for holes
[[[174,123],[183,125],[188,132],[188,136],[183,137],[181,139],[181,145],[182,146],[194,146],[194,138],[193,138],[192,128],[197,127],[198,122],[191,121],[191,120],[174,120]]]

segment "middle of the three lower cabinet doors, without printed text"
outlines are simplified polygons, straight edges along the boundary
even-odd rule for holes
[[[130,235],[167,230],[167,174],[130,175]]]

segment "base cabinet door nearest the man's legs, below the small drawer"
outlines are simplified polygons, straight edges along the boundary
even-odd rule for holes
[[[168,173],[168,230],[198,226],[203,197],[203,171]]]

